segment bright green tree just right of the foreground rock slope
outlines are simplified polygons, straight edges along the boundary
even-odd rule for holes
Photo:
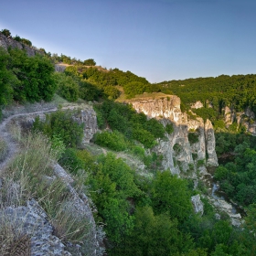
[[[122,159],[114,155],[101,156],[100,165],[95,165],[89,176],[93,202],[99,212],[99,219],[107,223],[108,238],[114,242],[121,242],[123,235],[133,229],[133,216],[129,215],[127,197],[134,197],[140,190],[133,182],[133,171]]]

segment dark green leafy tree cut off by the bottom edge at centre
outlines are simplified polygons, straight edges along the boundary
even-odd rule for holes
[[[110,255],[169,256],[192,247],[191,239],[180,233],[176,220],[166,214],[155,215],[150,207],[137,208],[134,219],[133,232]]]

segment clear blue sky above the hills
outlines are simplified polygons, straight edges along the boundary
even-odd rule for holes
[[[0,29],[13,36],[151,82],[256,73],[255,0],[0,0],[0,6]]]

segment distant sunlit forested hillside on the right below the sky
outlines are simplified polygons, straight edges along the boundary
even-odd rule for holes
[[[204,108],[194,109],[193,112],[203,117],[204,120],[208,118],[213,123],[219,120],[225,106],[229,106],[237,112],[250,107],[255,112],[255,85],[256,76],[253,74],[170,80],[157,84],[162,87],[162,92],[171,90],[180,97],[182,103],[186,105],[181,104],[183,112],[192,103],[201,101]]]

